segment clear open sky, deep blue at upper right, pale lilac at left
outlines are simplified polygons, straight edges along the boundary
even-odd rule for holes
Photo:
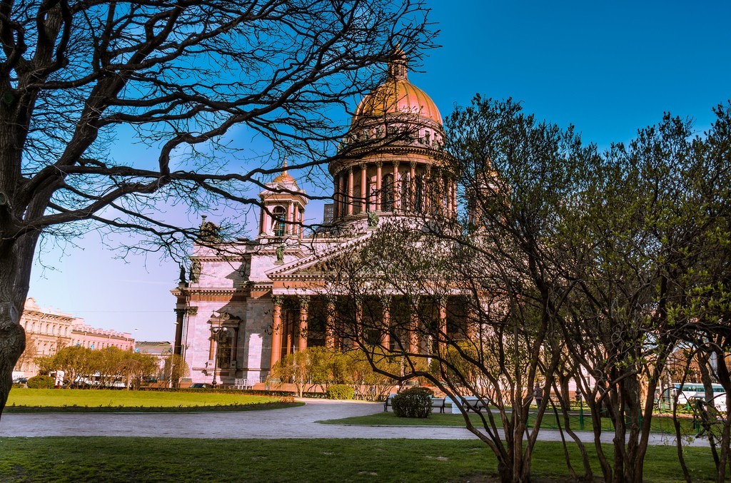
[[[512,97],[605,148],[664,111],[694,118],[702,132],[711,108],[731,98],[731,2],[433,0],[431,8],[442,47],[409,79],[444,116],[476,93]],[[321,205],[308,205],[307,216],[321,217]],[[48,248],[42,262],[53,270],[36,263],[29,296],[95,327],[172,340],[177,265],[116,255],[99,235]]]

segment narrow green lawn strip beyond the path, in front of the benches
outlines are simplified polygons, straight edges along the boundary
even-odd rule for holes
[[[473,425],[476,426],[482,426],[482,420],[477,414],[470,414],[470,420]],[[494,414],[494,417],[496,418],[496,425],[498,427],[502,427],[501,420],[499,419],[499,415],[497,413]],[[533,419],[531,418],[530,421],[532,422]],[[423,419],[417,419],[417,418],[402,418],[402,417],[396,417],[393,412],[381,412],[378,414],[369,414],[368,416],[357,416],[357,417],[349,417],[344,419],[328,419],[327,421],[322,421],[325,424],[333,424],[333,425],[366,425],[366,426],[372,426],[372,425],[383,425],[383,426],[458,426],[463,427],[465,425],[464,418],[461,414],[440,414],[440,413],[432,413],[430,417],[423,418]],[[683,431],[686,433],[692,432],[692,422],[690,419],[683,419],[681,421],[683,425]],[[561,426],[563,427],[563,419],[561,419]],[[557,429],[558,426],[556,425],[556,419],[553,417],[553,415],[546,415],[543,417],[542,428],[545,429]],[[580,422],[578,417],[572,417],[571,418],[571,428],[573,430],[582,430],[580,428]],[[591,424],[591,418],[588,414],[584,417],[584,431],[591,431],[593,428],[593,425]],[[653,417],[652,419],[652,428],[653,431],[656,431],[658,433],[675,433],[675,430],[673,429],[673,423],[670,421],[670,418],[667,417]],[[612,423],[610,419],[608,418],[602,418],[602,430],[613,430]],[[693,433],[694,434],[694,433]]]

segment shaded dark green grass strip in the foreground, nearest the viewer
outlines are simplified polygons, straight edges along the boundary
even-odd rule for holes
[[[0,455],[2,482],[484,482],[496,472],[480,441],[0,438]],[[688,448],[686,460],[696,481],[711,480],[708,449]],[[533,475],[569,476],[560,444],[537,444]],[[645,482],[679,481],[675,447],[651,447]]]

